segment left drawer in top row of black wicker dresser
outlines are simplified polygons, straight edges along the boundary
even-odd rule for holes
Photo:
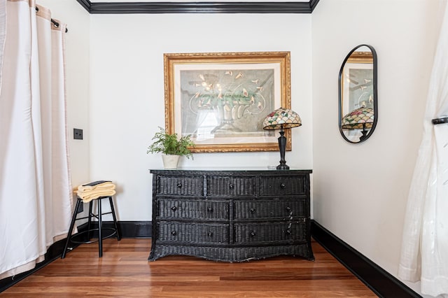
[[[156,194],[204,196],[203,176],[158,176]]]

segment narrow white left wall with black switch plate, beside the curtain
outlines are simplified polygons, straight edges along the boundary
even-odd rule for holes
[[[37,0],[50,8],[52,18],[67,24],[66,103],[69,154],[73,187],[88,182],[89,169],[89,31],[90,15],[73,0]],[[73,140],[73,128],[84,130],[84,139]]]

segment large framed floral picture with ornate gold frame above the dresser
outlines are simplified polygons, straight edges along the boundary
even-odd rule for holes
[[[193,152],[279,150],[262,121],[290,108],[290,52],[166,53],[164,75],[165,129],[191,134]]]

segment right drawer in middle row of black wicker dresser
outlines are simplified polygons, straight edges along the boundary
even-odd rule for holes
[[[307,208],[304,199],[296,200],[237,200],[234,202],[235,220],[281,219],[292,220],[305,217]]]

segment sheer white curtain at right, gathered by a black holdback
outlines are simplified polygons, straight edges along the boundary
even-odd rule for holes
[[[398,276],[448,297],[448,5],[430,78],[423,140],[409,190]]]

